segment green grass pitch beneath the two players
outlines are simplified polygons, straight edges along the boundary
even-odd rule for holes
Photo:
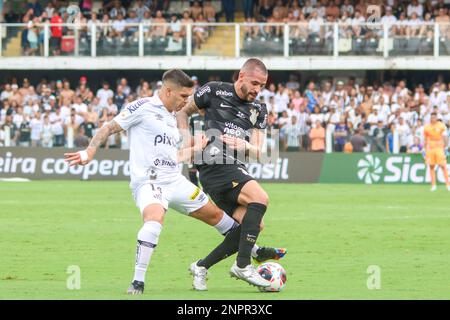
[[[271,203],[258,243],[288,248],[281,293],[211,269],[209,291],[191,289],[189,264],[222,237],[169,211],[132,299],[449,299],[450,193],[428,186],[267,184]],[[0,183],[0,299],[129,299],[141,226],[127,182]],[[68,266],[81,289],[68,290]],[[367,268],[381,289],[367,288]]]

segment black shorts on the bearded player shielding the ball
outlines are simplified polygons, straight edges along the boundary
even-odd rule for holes
[[[200,183],[214,203],[229,216],[239,207],[238,197],[244,185],[254,180],[244,166],[232,164],[198,167]]]

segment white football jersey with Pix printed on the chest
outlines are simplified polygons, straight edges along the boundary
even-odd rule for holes
[[[133,190],[143,183],[164,183],[180,175],[175,113],[169,112],[157,95],[129,103],[114,121],[128,131]]]

